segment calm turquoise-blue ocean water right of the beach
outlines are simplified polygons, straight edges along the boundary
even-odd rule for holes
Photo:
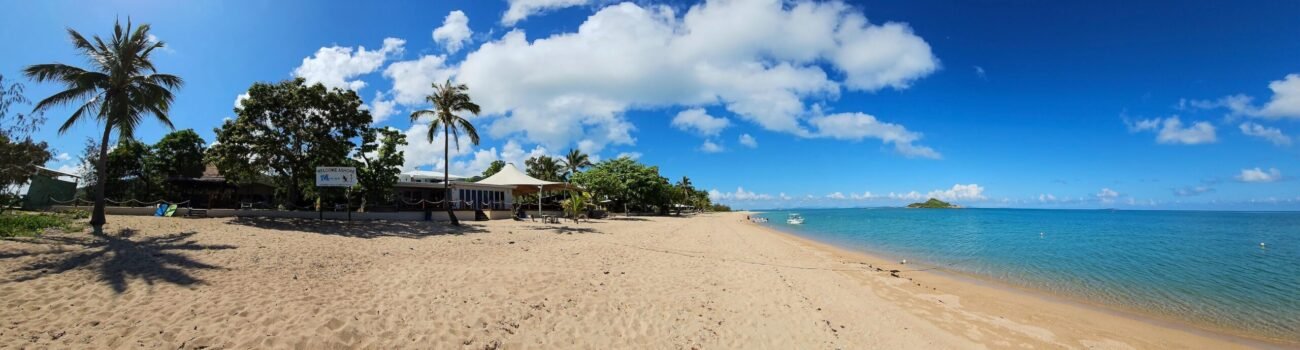
[[[806,222],[785,224],[790,212]],[[913,268],[1300,342],[1300,212],[854,208],[759,216]]]

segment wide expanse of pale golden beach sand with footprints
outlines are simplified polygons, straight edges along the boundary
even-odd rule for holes
[[[1268,346],[894,277],[744,213],[465,224],[112,216],[104,239],[0,241],[0,347]]]

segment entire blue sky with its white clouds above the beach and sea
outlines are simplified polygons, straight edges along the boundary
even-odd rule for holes
[[[83,64],[64,29],[130,16],[187,82],[176,126],[208,141],[251,83],[294,75],[419,135],[406,116],[452,78],[488,112],[454,173],[580,147],[742,208],[1300,209],[1300,3],[953,3],[10,1],[0,74],[44,98],[23,66]],[[95,134],[56,134],[68,114],[38,134],[72,156],[52,168]]]

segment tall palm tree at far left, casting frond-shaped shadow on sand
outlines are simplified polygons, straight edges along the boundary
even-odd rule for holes
[[[150,53],[162,48],[162,42],[151,40],[150,25],[126,27],[121,22],[113,25],[113,36],[105,43],[99,35],[94,42],[84,35],[68,29],[73,47],[90,59],[91,69],[65,64],[38,64],[23,69],[23,74],[36,82],[62,83],[66,90],[58,91],[36,104],[34,111],[44,111],[55,105],[77,105],[58,133],[68,131],[84,118],[95,118],[104,124],[100,138],[99,159],[95,164],[99,181],[95,183],[95,211],[90,224],[95,234],[104,234],[104,177],[108,159],[108,138],[117,129],[120,139],[130,139],[147,116],[153,116],[169,129],[172,121],[168,111],[172,108],[172,90],[183,83],[179,77],[157,73]]]

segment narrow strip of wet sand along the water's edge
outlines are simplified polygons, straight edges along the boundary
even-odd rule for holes
[[[744,211],[741,213],[755,215],[757,212]],[[1109,316],[1131,323],[1141,323],[1149,327],[1162,328],[1170,332],[1184,332],[1187,334],[1217,340],[1221,342],[1238,346],[1248,346],[1256,349],[1292,349],[1300,346],[1300,342],[1288,341],[1284,338],[1270,338],[1247,332],[1236,332],[1234,329],[1202,327],[1196,323],[1143,312],[1141,310],[1136,308],[1124,308],[1121,306],[1097,303],[1070,295],[1058,295],[1044,290],[1018,286],[992,278],[984,278],[983,276],[978,275],[963,273],[959,271],[950,271],[942,265],[924,265],[923,269],[907,269],[905,268],[905,265],[898,264],[896,259],[884,256],[888,254],[841,247],[831,242],[823,242],[815,238],[803,237],[794,232],[786,232],[775,226],[751,222],[748,220],[745,220],[744,224],[751,225],[754,228],[758,228],[760,230],[776,234],[779,237],[790,241],[807,245],[809,247],[812,247],[815,250],[822,250],[836,258],[841,259],[848,258],[846,260],[853,263],[883,268],[885,269],[885,272],[890,269],[898,269],[900,271],[898,273],[902,278],[924,276],[923,278],[928,280],[928,282],[931,284],[950,285],[954,286],[954,289],[958,290],[959,293],[970,294],[974,297],[996,297],[996,298],[1022,297],[1032,301],[1030,302],[1030,304],[1048,306],[1050,308],[1063,308],[1063,311],[1069,312],[1097,314],[1102,317]],[[861,262],[854,262],[853,259]],[[906,276],[904,273],[919,275],[919,276]],[[952,290],[949,290],[949,293],[952,293]],[[1010,295],[997,295],[997,294],[1010,294]],[[988,310],[982,310],[982,311],[988,311]]]

